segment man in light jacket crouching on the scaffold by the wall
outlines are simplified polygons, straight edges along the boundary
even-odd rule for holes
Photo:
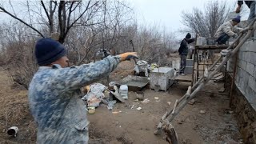
[[[241,32],[243,29],[237,27],[238,23],[240,22],[240,16],[233,18],[225,23],[222,24],[214,34],[214,38],[217,38],[216,42],[218,44],[226,44],[226,42],[231,38],[238,37],[239,32]]]

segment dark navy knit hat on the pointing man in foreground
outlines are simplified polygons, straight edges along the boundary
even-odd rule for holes
[[[35,57],[39,66],[46,66],[62,58],[66,54],[66,50],[61,43],[50,39],[39,39],[35,45]]]

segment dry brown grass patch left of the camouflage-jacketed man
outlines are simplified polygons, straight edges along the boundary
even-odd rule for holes
[[[36,125],[30,114],[27,90],[10,82],[0,69],[0,143],[34,143]],[[10,126],[18,126],[16,138],[6,134]]]

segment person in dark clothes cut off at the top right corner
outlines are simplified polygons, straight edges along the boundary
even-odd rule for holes
[[[243,4],[243,2],[246,3],[246,5],[250,8],[250,14],[248,17],[248,22],[252,22],[252,20],[255,18],[255,1],[240,1],[238,0],[238,7],[237,10],[235,11],[236,13],[240,13],[241,10],[241,6]]]

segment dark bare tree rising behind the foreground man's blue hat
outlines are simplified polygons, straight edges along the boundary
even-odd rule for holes
[[[86,0],[86,1],[40,1],[40,7],[37,7],[38,3],[33,1],[26,1],[26,9],[28,11],[27,16],[23,18],[18,18],[17,11],[15,11],[14,5],[10,2],[9,9],[7,10],[2,4],[0,4],[0,10],[9,14],[10,17],[22,22],[26,26],[29,26],[36,33],[40,34],[42,37],[49,36],[54,32],[58,32],[58,42],[63,43],[70,29],[74,26],[90,26],[95,23],[90,21],[100,10],[102,3],[98,0]],[[18,6],[18,2],[15,3],[15,6]],[[22,6],[22,4],[21,4]],[[49,8],[48,8],[49,7]],[[36,10],[37,8],[37,10]],[[11,12],[13,11],[13,12]],[[42,34],[39,30],[40,27],[36,26],[36,22],[32,23],[31,15],[38,15],[42,18],[42,23],[48,26],[48,35]],[[46,16],[45,16],[46,15]],[[81,21],[83,18],[83,21]],[[29,19],[29,22],[26,22],[26,19]],[[54,30],[54,28],[56,30]]]

